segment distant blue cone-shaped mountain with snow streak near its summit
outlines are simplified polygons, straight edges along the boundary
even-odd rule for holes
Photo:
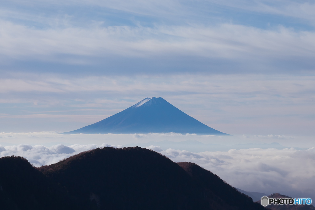
[[[145,98],[122,112],[64,134],[168,132],[229,135],[204,125],[161,97]]]

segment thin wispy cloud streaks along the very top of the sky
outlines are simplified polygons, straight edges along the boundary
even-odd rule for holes
[[[208,11],[208,17],[216,13],[224,14],[222,8],[228,11],[234,12],[256,12],[261,14],[268,15],[283,15],[291,16],[295,18],[303,18],[306,20],[312,20],[314,14],[312,13],[314,4],[303,0],[258,0],[258,1],[249,1],[249,0],[207,0],[207,1],[198,1],[192,2],[189,0],[185,1],[129,1],[129,0],[119,0],[119,1],[101,1],[101,0],[45,0],[45,1],[21,1],[21,0],[12,0],[11,4],[7,4],[8,8],[11,5],[22,5],[28,9],[32,8],[41,8],[48,10],[49,8],[65,8],[67,12],[68,7],[74,8],[84,8],[86,5],[89,7],[100,7],[103,9],[112,9],[117,11],[122,11],[127,14],[133,15],[142,15],[142,16],[159,16],[160,18],[170,19],[170,18],[183,18],[182,16],[187,17],[187,19],[193,21],[198,20],[198,16],[204,16],[205,10]],[[17,7],[18,8],[18,7]],[[213,9],[215,8],[215,9]],[[34,10],[34,9],[33,9]],[[209,14],[210,13],[210,14]]]

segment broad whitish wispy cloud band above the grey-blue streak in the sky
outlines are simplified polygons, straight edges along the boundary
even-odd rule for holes
[[[1,25],[0,54],[6,62],[7,59],[31,59],[92,65],[97,61],[100,65],[102,58],[119,57],[137,58],[140,59],[139,62],[141,59],[162,59],[171,64],[174,61],[170,61],[170,58],[184,60],[190,57],[189,59],[194,60],[197,56],[199,59],[223,59],[237,63],[245,72],[265,72],[267,67],[275,70],[272,66],[277,63],[286,66],[283,62],[293,61],[295,65],[301,66],[295,71],[309,69],[315,55],[313,32],[295,32],[284,27],[262,30],[222,24],[215,27],[195,25],[36,29],[8,21],[1,21]],[[212,66],[214,60],[202,62]],[[257,67],[258,63],[260,67]],[[199,68],[197,71],[205,69]],[[235,71],[242,70],[239,66]],[[277,71],[284,72],[284,69]]]

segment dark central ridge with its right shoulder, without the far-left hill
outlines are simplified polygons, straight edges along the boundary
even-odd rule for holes
[[[85,209],[92,201],[99,209],[264,209],[196,164],[140,147],[94,149],[39,170]]]

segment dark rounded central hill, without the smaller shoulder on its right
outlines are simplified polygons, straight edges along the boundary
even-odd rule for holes
[[[190,176],[176,163],[140,147],[105,147],[40,168],[88,207],[100,209],[202,209]]]

